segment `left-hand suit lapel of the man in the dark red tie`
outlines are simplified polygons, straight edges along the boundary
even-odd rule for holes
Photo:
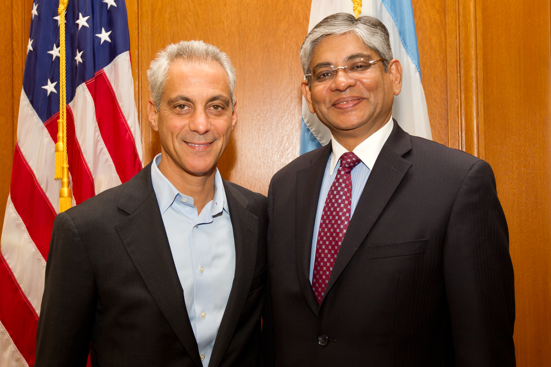
[[[311,165],[296,172],[295,191],[295,251],[296,271],[298,272],[300,288],[312,312],[317,315],[320,305],[317,303],[312,284],[310,283],[310,256],[312,253],[312,238],[316,221],[317,203],[320,199],[323,174],[329,155],[331,143],[320,149],[320,154],[312,158]]]

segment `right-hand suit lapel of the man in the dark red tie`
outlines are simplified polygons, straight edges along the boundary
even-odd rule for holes
[[[329,277],[325,295],[331,291],[334,283],[341,276],[348,262],[358,250],[359,245],[371,231],[371,227],[381,215],[382,210],[385,209],[388,200],[390,200],[412,166],[410,162],[402,158],[402,155],[411,149],[409,134],[404,132],[394,120],[392,133],[388,136],[375,161],[344,235],[337,260],[335,260],[335,265]]]

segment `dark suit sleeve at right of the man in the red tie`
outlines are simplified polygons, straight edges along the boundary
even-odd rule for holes
[[[509,232],[490,165],[475,163],[457,194],[444,245],[456,366],[515,366]]]

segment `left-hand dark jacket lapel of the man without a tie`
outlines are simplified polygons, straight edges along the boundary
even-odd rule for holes
[[[151,163],[127,185],[117,206],[129,214],[116,228],[161,313],[191,359],[202,366],[183,290],[151,183]]]

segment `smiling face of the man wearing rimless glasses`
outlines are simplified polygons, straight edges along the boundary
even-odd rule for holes
[[[315,47],[310,67],[345,66],[358,58],[376,60],[381,56],[355,34],[326,36]],[[309,86],[303,81],[302,94],[310,112],[317,114],[339,142],[341,137],[359,144],[390,119],[394,96],[399,94],[401,86],[402,67],[392,59],[388,72],[377,62],[360,77],[338,69],[328,83]]]

